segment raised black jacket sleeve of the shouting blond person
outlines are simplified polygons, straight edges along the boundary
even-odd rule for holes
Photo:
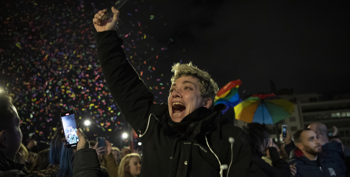
[[[124,53],[115,30],[97,33],[97,54],[111,94],[124,119],[140,133],[147,127],[153,94],[148,91]]]

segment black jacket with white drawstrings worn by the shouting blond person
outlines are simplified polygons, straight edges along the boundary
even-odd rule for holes
[[[122,44],[115,30],[97,33],[98,58],[107,85],[125,120],[140,133],[140,177],[265,175],[251,164],[243,130],[223,118],[224,106],[217,105],[214,111],[198,108],[174,123],[166,103],[153,103],[153,94],[126,59]]]

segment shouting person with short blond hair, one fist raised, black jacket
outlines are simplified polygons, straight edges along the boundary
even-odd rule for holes
[[[119,11],[93,19],[97,53],[113,99],[142,141],[140,176],[266,176],[251,164],[251,150],[241,128],[214,105],[218,86],[211,76],[189,64],[175,64],[168,104],[154,95],[127,60],[116,26]],[[254,174],[253,174],[254,173]]]

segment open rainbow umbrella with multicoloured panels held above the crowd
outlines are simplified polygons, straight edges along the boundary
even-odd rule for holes
[[[235,107],[235,117],[246,123],[274,124],[292,115],[294,104],[275,94],[257,95],[247,98]]]

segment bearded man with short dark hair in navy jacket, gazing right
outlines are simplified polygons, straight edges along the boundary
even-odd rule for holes
[[[295,146],[289,164],[295,165],[296,177],[344,176],[346,168],[336,156],[321,155],[322,146],[318,135],[309,128],[298,130],[293,135]],[[342,149],[323,149],[329,153],[339,153]]]

